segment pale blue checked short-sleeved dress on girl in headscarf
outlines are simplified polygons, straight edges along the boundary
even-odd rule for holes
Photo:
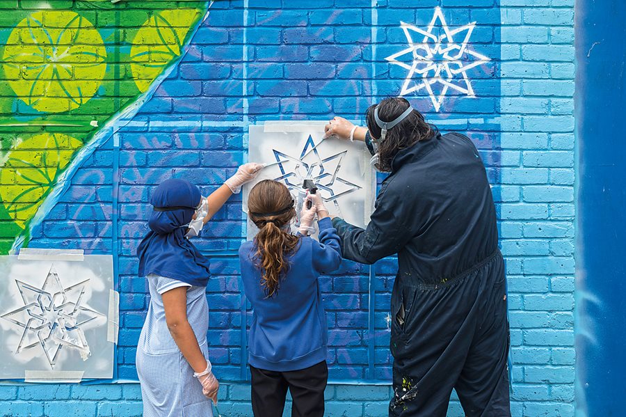
[[[213,417],[211,400],[176,345],[166,324],[161,294],[177,287],[187,290],[187,320],[209,361],[207,330],[209,305],[204,287],[150,274],[150,306],[137,347],[137,373],[141,383],[144,417]]]

